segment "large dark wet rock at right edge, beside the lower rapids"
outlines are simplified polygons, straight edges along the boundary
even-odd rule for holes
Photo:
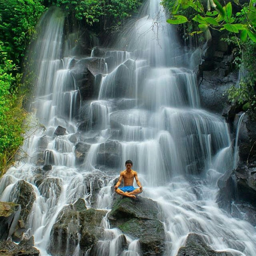
[[[217,203],[232,217],[249,221],[256,225],[256,165],[238,165],[236,170],[223,175],[219,181],[220,188]]]

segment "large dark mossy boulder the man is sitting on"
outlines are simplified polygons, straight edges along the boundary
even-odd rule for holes
[[[143,255],[162,255],[165,250],[164,227],[157,219],[157,204],[138,197],[117,199],[108,219],[126,235],[139,239]]]

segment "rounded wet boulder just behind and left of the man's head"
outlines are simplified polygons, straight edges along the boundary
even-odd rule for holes
[[[110,168],[118,168],[121,165],[121,145],[118,141],[107,141],[100,145],[97,154],[97,164]]]

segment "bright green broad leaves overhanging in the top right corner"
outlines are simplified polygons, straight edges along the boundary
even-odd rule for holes
[[[213,30],[240,33],[240,38],[244,42],[247,37],[256,42],[256,8],[253,6],[255,2],[256,0],[250,0],[249,5],[246,3],[243,6],[239,5],[241,11],[235,15],[232,12],[232,3],[238,5],[238,1],[228,2],[225,6],[222,6],[218,0],[208,0],[207,5],[203,0],[162,0],[161,3],[173,16],[173,18],[167,19],[168,23],[196,22],[199,31],[198,29],[192,31],[191,36],[203,31],[209,32],[211,28]]]

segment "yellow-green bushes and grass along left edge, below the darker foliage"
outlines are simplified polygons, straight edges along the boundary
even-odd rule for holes
[[[0,42],[0,174],[10,165],[12,157],[23,143],[22,123],[25,117],[22,98],[13,90],[16,69],[11,60],[6,58]]]

